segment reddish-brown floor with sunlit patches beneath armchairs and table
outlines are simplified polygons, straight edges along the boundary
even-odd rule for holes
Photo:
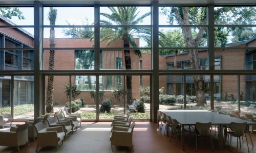
[[[82,122],[82,125],[80,127],[80,131],[84,131],[84,129],[87,129],[88,127],[97,127],[95,129],[99,131],[105,131],[109,129],[110,122]],[[101,128],[102,127],[102,128]],[[90,128],[89,128],[90,129]],[[79,132],[79,131],[77,131]],[[95,133],[97,135],[97,132]],[[105,145],[106,149],[105,152],[111,152],[110,147],[110,141],[108,137],[109,133],[107,133],[104,137],[97,140],[97,145],[90,146],[91,149],[88,151],[88,148],[86,147],[79,147],[79,149],[74,149],[74,152],[97,152],[98,148],[93,148],[97,146]],[[88,135],[89,136],[89,135]],[[74,138],[76,137],[76,138]],[[64,142],[63,145],[69,146],[72,143],[74,139],[79,139],[78,137],[81,137],[78,133],[71,135],[71,137],[67,138],[67,141]],[[83,141],[78,141],[78,143],[81,143],[81,146],[85,141],[93,141],[95,137],[84,137],[82,138]],[[87,139],[87,140],[86,140]],[[160,133],[157,129],[157,124],[152,122],[136,122],[134,134],[133,134],[133,143],[134,143],[134,152],[196,152],[195,151],[195,137],[192,135],[192,138],[189,139],[186,137],[185,139],[185,151],[182,151],[181,149],[181,141],[178,139],[177,147],[175,147],[175,140],[176,135],[173,136],[172,141],[169,142],[169,137],[165,137],[163,133]],[[247,138],[250,152],[256,152],[256,147],[252,147],[251,141],[249,139],[249,136]],[[252,140],[254,144],[256,144],[256,134],[252,134]],[[206,142],[206,144],[205,144]],[[229,146],[226,145],[224,149],[218,150],[217,146],[217,134],[213,138],[215,151],[214,152],[230,152]],[[101,144],[102,143],[102,144]],[[248,152],[246,141],[244,139],[244,142],[242,142],[242,147],[236,147],[237,145],[237,139],[232,139],[232,152]],[[20,147],[20,151],[14,150],[15,148],[10,147],[10,152],[35,152],[36,142],[30,141],[29,146],[22,146]],[[62,151],[61,150],[62,147]],[[63,147],[65,146],[59,146],[59,151],[57,152],[63,152]],[[11,151],[14,150],[14,151]],[[72,150],[72,148],[71,148]],[[114,147],[114,150],[118,150],[118,148]],[[45,149],[42,152],[52,152],[53,150],[46,151]],[[1,151],[0,151],[1,152]],[[104,152],[104,151],[101,151]],[[130,148],[127,148],[126,152],[132,152]],[[209,141],[205,141],[203,138],[198,140],[198,151],[197,152],[212,152],[210,148]]]

